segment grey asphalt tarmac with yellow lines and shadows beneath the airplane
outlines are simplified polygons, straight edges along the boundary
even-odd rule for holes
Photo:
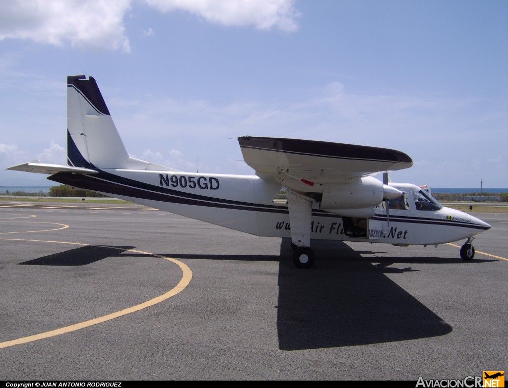
[[[0,379],[463,379],[508,368],[508,214],[401,248],[251,236],[134,204],[0,202]]]

